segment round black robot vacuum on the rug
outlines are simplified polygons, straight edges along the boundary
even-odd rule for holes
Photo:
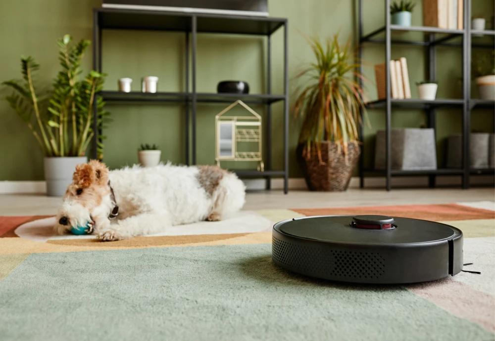
[[[462,231],[383,215],[328,215],[276,223],[275,264],[333,281],[400,284],[438,280],[462,270]]]

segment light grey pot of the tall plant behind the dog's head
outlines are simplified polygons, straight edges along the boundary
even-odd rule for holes
[[[72,183],[72,175],[76,170],[76,166],[87,162],[88,158],[85,156],[45,158],[47,195],[49,197],[62,197],[67,187]]]

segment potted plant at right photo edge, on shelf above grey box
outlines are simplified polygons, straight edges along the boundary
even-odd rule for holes
[[[475,55],[471,74],[476,79],[479,99],[495,100],[495,51]]]

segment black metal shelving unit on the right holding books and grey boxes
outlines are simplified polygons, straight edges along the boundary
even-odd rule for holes
[[[386,169],[385,170],[370,170],[364,168],[364,153],[363,145],[361,145],[361,158],[359,160],[359,177],[360,187],[364,187],[364,177],[366,175],[384,175],[386,177],[386,189],[391,190],[392,176],[428,176],[429,187],[435,187],[436,176],[438,175],[459,175],[462,176],[462,188],[469,188],[469,176],[478,174],[495,174],[494,169],[472,170],[469,168],[469,132],[471,130],[471,110],[474,108],[494,109],[495,102],[479,99],[471,99],[471,48],[494,48],[493,44],[478,44],[472,43],[471,37],[474,34],[483,34],[485,36],[495,36],[495,31],[472,31],[471,30],[471,1],[464,0],[464,29],[449,30],[427,26],[398,26],[391,24],[390,15],[391,0],[385,0],[385,18],[386,22],[383,27],[363,35],[363,0],[358,0],[358,34],[359,34],[359,59],[362,59],[364,43],[378,43],[385,45],[385,65],[386,65],[386,83],[387,97],[383,100],[377,100],[367,103],[368,108],[384,108],[386,114]],[[392,39],[392,33],[397,31],[419,32],[429,35],[424,35],[422,40],[405,40]],[[377,38],[379,35],[385,34],[385,38]],[[461,38],[462,43],[452,43],[455,38]],[[442,99],[438,98],[432,101],[422,100],[419,98],[411,99],[393,99],[391,96],[390,85],[390,60],[392,44],[406,44],[426,47],[428,59],[428,79],[436,80],[436,54],[435,47],[438,45],[446,45],[462,48],[463,70],[463,96],[459,99]],[[362,73],[362,66],[360,67]],[[362,80],[359,79],[362,85]],[[391,123],[392,123],[392,108],[422,108],[428,118],[428,127],[435,128],[437,108],[459,108],[462,109],[462,155],[463,165],[461,169],[437,169],[433,171],[399,171],[391,168]],[[361,140],[363,140],[363,128],[360,128]]]

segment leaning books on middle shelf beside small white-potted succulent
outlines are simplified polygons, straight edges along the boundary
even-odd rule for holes
[[[376,86],[378,99],[387,98],[387,83],[385,63],[375,65]],[[392,98],[411,98],[411,85],[409,84],[409,72],[407,71],[407,61],[404,57],[390,61],[390,85]]]

